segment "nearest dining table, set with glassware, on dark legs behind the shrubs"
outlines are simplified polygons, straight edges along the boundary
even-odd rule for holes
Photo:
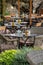
[[[37,36],[37,34],[28,34],[28,35],[26,35],[25,33],[13,33],[13,34],[1,34],[4,38],[6,38],[6,37],[8,37],[8,39],[9,39],[9,37],[10,37],[10,40],[12,40],[13,42],[14,42],[14,39],[16,39],[17,38],[17,45],[18,45],[18,48],[20,48],[19,47],[19,43],[20,43],[20,38],[26,38],[25,40],[24,40],[24,45],[26,45],[26,41],[29,39],[29,38],[31,38],[31,37],[33,37],[34,38],[34,41],[33,41],[33,43],[35,44],[35,37]]]

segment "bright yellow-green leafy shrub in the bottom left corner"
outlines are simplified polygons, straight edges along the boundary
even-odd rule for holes
[[[13,57],[16,54],[16,50],[6,50],[0,54],[0,64],[2,65],[10,65],[13,61]]]

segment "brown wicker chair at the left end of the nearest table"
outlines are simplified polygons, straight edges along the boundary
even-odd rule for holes
[[[15,49],[17,48],[17,44],[15,45],[15,39],[9,39],[9,37],[4,37],[0,34],[1,43],[0,43],[0,51]]]

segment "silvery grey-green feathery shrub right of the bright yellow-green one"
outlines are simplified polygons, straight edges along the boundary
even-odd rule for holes
[[[29,65],[26,59],[26,54],[28,52],[28,48],[20,49],[13,58],[13,62],[11,65]]]

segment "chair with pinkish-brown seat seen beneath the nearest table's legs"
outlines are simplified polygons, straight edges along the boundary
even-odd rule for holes
[[[29,39],[29,38],[26,38],[25,40],[24,39],[20,39],[20,43],[19,43],[19,46],[22,48],[23,46],[30,46],[30,47],[33,47],[34,46],[34,41],[32,39]]]

